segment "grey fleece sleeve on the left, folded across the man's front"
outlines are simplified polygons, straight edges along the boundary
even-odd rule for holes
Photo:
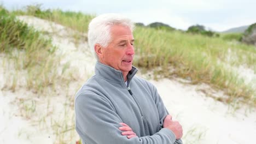
[[[174,134],[167,128],[152,136],[127,139],[121,135],[120,122],[108,99],[92,93],[79,94],[75,99],[75,129],[85,143],[170,144],[175,141]]]

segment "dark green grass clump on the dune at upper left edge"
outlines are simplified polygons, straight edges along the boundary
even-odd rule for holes
[[[12,47],[17,49],[30,50],[34,49],[33,44],[42,44],[41,47],[44,49],[50,49],[50,40],[42,38],[39,32],[33,28],[28,27],[26,23],[15,19],[14,15],[10,15],[9,12],[2,8],[0,10],[1,15],[1,51],[9,51]]]

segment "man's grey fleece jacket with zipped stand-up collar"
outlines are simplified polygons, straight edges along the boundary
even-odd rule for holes
[[[182,143],[171,130],[163,128],[168,114],[156,88],[135,76],[108,65],[96,63],[95,75],[75,95],[75,129],[83,143]],[[121,135],[121,124],[128,124],[138,137]]]

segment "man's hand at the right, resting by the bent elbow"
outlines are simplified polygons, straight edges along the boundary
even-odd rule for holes
[[[171,115],[167,115],[165,117],[164,128],[170,129],[176,136],[176,139],[181,139],[181,137],[183,135],[182,125],[179,124],[178,121],[172,121]]]

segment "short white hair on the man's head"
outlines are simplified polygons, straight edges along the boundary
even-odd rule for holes
[[[133,22],[119,14],[102,14],[91,20],[88,27],[88,43],[91,52],[97,58],[94,50],[95,44],[100,44],[103,47],[108,46],[112,40],[110,28],[114,25],[127,26],[133,31]],[[98,59],[98,58],[97,58]]]

